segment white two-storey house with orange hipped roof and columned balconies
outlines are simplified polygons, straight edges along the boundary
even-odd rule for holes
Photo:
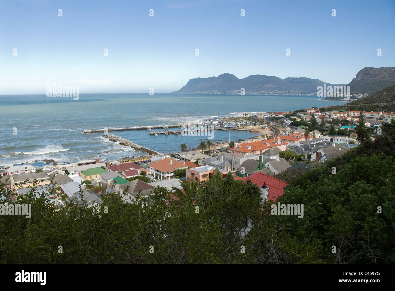
[[[188,166],[172,158],[166,158],[154,162],[147,167],[147,177],[156,180],[167,180],[174,177],[174,171],[186,169]]]

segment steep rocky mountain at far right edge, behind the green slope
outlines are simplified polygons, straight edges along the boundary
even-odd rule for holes
[[[350,86],[351,93],[372,94],[394,84],[395,67],[365,67],[347,86]]]

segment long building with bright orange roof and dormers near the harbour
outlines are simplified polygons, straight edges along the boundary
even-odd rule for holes
[[[259,142],[248,142],[239,145],[235,144],[235,147],[232,147],[229,150],[231,153],[235,153],[237,155],[261,155],[264,151],[271,147],[278,147],[281,151],[285,151],[287,145],[284,141],[274,138],[271,140],[261,140]]]

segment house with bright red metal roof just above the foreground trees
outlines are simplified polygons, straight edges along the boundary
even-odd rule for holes
[[[243,182],[250,180],[251,183],[256,184],[261,188],[262,200],[269,201],[277,200],[278,197],[284,194],[284,188],[288,186],[288,183],[260,172],[256,172],[244,178],[233,177],[233,179],[241,180]]]

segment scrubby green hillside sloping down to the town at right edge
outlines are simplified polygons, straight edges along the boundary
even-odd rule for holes
[[[331,107],[328,110],[395,112],[395,85],[344,105]]]

